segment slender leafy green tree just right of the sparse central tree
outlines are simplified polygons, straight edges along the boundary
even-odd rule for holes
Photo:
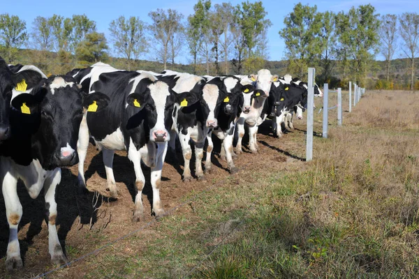
[[[210,13],[211,1],[201,1],[193,6],[195,13],[189,15],[186,28],[186,40],[188,41],[189,53],[193,56],[193,73],[196,74],[196,62],[204,40],[204,34],[209,26],[208,14]]]

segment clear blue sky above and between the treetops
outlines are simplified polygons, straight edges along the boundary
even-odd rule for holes
[[[110,0],[71,0],[71,1],[57,1],[57,0],[15,0],[2,1],[0,5],[0,13],[9,13],[10,15],[18,15],[27,22],[27,28],[31,29],[34,18],[38,15],[43,17],[50,17],[53,14],[63,15],[64,17],[71,17],[74,14],[86,14],[89,19],[96,21],[96,26],[99,32],[105,33],[108,38],[108,27],[112,20],[115,20],[120,15],[126,17],[138,16],[141,20],[149,22],[148,13],[157,8],[176,9],[185,15],[185,18],[193,13],[193,5],[198,0],[163,0],[163,1],[110,1]],[[222,3],[226,1],[212,0],[214,3]],[[242,1],[233,0],[230,3],[233,6]],[[299,1],[272,1],[263,0],[263,6],[267,10],[267,18],[271,20],[272,27],[270,27],[267,36],[269,38],[269,53],[271,60],[284,59],[284,41],[279,37],[278,31],[284,28],[284,17],[293,10],[295,3]],[[308,1],[301,1],[303,4]],[[352,6],[365,5],[368,3],[365,0],[323,0],[310,1],[310,6],[317,6],[318,11],[332,10],[339,12],[341,10],[348,11]],[[418,12],[418,0],[372,0],[369,1],[375,8],[376,12],[384,15],[392,13],[399,15],[405,12]],[[186,51],[185,51],[186,52]],[[396,54],[395,58],[401,57],[401,54]],[[149,58],[149,56],[145,57]],[[377,59],[383,59],[382,56],[377,56]],[[188,63],[189,57],[179,57],[177,62]]]

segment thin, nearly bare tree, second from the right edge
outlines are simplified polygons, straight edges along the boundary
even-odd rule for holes
[[[390,80],[390,66],[392,56],[395,54],[397,43],[397,16],[383,15],[381,17],[381,27],[379,29],[381,38],[381,54],[387,62],[385,65],[385,77]]]

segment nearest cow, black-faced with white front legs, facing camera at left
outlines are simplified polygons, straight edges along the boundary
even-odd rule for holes
[[[17,196],[18,179],[24,182],[34,199],[44,189],[51,261],[53,264],[67,261],[55,226],[55,188],[61,181],[59,167],[78,163],[75,152],[78,130],[83,107],[91,103],[97,103],[100,110],[106,107],[108,98],[101,93],[87,96],[80,91],[80,85],[67,76],[41,80],[30,93],[18,93],[11,100],[11,135],[0,146],[0,178],[10,229],[7,270],[22,267],[17,239],[22,218],[22,205]]]

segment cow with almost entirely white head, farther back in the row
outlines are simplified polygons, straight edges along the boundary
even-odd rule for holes
[[[243,94],[244,107],[240,116],[236,119],[238,140],[236,152],[242,153],[242,138],[244,136],[244,123],[249,127],[249,149],[252,153],[258,152],[257,133],[258,126],[263,123],[261,117],[265,100],[270,96],[272,82],[277,82],[278,75],[272,75],[270,70],[258,70],[257,75],[239,76],[242,84],[251,83],[255,91],[253,94]],[[250,100],[250,102],[249,102]]]

